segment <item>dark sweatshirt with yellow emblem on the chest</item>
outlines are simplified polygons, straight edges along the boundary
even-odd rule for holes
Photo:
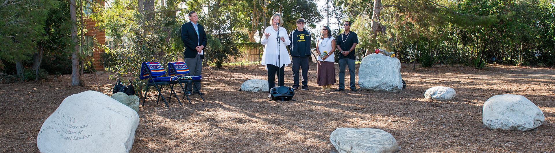
[[[291,54],[291,57],[309,57],[310,56],[311,35],[310,35],[310,32],[308,32],[308,30],[304,29],[304,30],[302,30],[302,32],[300,32],[297,29],[293,30],[291,33],[289,33],[289,40],[291,41],[291,44],[289,45],[289,52]],[[297,42],[299,40],[304,40],[305,45],[306,45],[304,50],[299,50],[298,49],[299,47],[297,47],[297,45],[299,43],[297,43]]]

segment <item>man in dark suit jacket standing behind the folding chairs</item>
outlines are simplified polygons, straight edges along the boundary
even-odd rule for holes
[[[201,75],[203,69],[204,49],[206,48],[206,33],[203,25],[198,23],[199,17],[196,12],[189,12],[189,21],[181,25],[181,41],[185,44],[183,52],[185,63],[189,67],[191,76]],[[194,83],[193,94],[200,93],[200,82]],[[187,84],[187,94],[191,92],[191,84]],[[201,93],[200,93],[201,94]]]

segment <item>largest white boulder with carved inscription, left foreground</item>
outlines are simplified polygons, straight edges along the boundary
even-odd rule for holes
[[[139,115],[97,91],[68,96],[44,121],[40,152],[129,152]]]

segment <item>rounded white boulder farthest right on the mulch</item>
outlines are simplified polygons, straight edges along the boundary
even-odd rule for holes
[[[543,121],[542,110],[522,95],[496,95],[484,103],[482,122],[490,129],[528,131]]]

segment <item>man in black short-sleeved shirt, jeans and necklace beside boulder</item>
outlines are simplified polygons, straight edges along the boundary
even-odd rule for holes
[[[351,80],[349,87],[352,91],[357,91],[355,86],[355,47],[359,43],[359,37],[355,32],[351,32],[351,22],[343,23],[345,32],[337,36],[337,49],[339,49],[339,88],[335,91],[345,90],[345,65],[349,67]]]

